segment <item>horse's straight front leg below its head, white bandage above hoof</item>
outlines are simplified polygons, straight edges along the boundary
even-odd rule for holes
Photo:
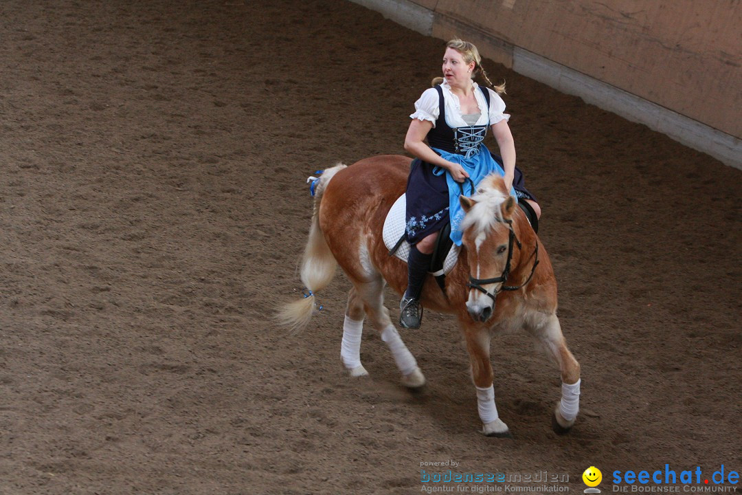
[[[471,361],[471,376],[476,387],[476,404],[482,433],[510,438],[508,425],[502,422],[495,405],[492,364],[490,363],[490,332],[481,325],[462,321],[464,340]]]

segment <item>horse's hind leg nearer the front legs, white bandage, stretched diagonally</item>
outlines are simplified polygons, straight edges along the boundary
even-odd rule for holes
[[[398,370],[401,372],[401,384],[410,389],[417,389],[425,384],[425,377],[417,365],[415,357],[404,345],[399,332],[389,317],[389,309],[384,306],[384,279],[355,283],[358,297],[373,326],[381,332],[381,340],[387,344]]]

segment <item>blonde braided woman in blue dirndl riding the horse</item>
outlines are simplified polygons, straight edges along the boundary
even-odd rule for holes
[[[496,91],[477,85],[473,77],[482,73],[479,51],[469,42],[452,39],[443,56],[443,77],[433,79],[417,102],[412,122],[404,138],[404,149],[413,160],[407,180],[407,241],[412,245],[407,260],[407,291],[400,303],[399,323],[404,328],[419,328],[422,318],[420,294],[430,268],[430,258],[438,231],[450,220],[451,240],[461,245],[457,229],[463,219],[459,194],[472,194],[467,183],[479,183],[490,172],[505,178],[510,194],[531,206],[537,217],[541,209],[536,198],[523,187],[522,174],[515,166],[515,145],[504,114],[505,102]],[[482,144],[487,127],[499,146],[500,157],[493,157]],[[424,140],[427,138],[427,144]],[[459,186],[459,184],[461,186]]]

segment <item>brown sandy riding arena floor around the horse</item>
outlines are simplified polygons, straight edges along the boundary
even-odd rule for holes
[[[590,465],[742,468],[741,171],[485,61],[582,364],[559,437],[556,367],[496,338],[515,439],[490,439],[452,318],[402,332],[418,394],[371,329],[372,378],[341,373],[343,275],[301,335],[272,321],[301,289],[305,178],[403,153],[440,40],[339,0],[0,19],[0,494],[412,494],[447,460],[581,493]]]

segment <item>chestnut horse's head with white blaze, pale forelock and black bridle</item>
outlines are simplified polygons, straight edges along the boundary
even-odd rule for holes
[[[519,240],[513,230],[516,200],[498,175],[485,177],[472,197],[459,197],[465,216],[462,243],[469,262],[467,311],[474,321],[487,321],[497,294],[505,287]]]

